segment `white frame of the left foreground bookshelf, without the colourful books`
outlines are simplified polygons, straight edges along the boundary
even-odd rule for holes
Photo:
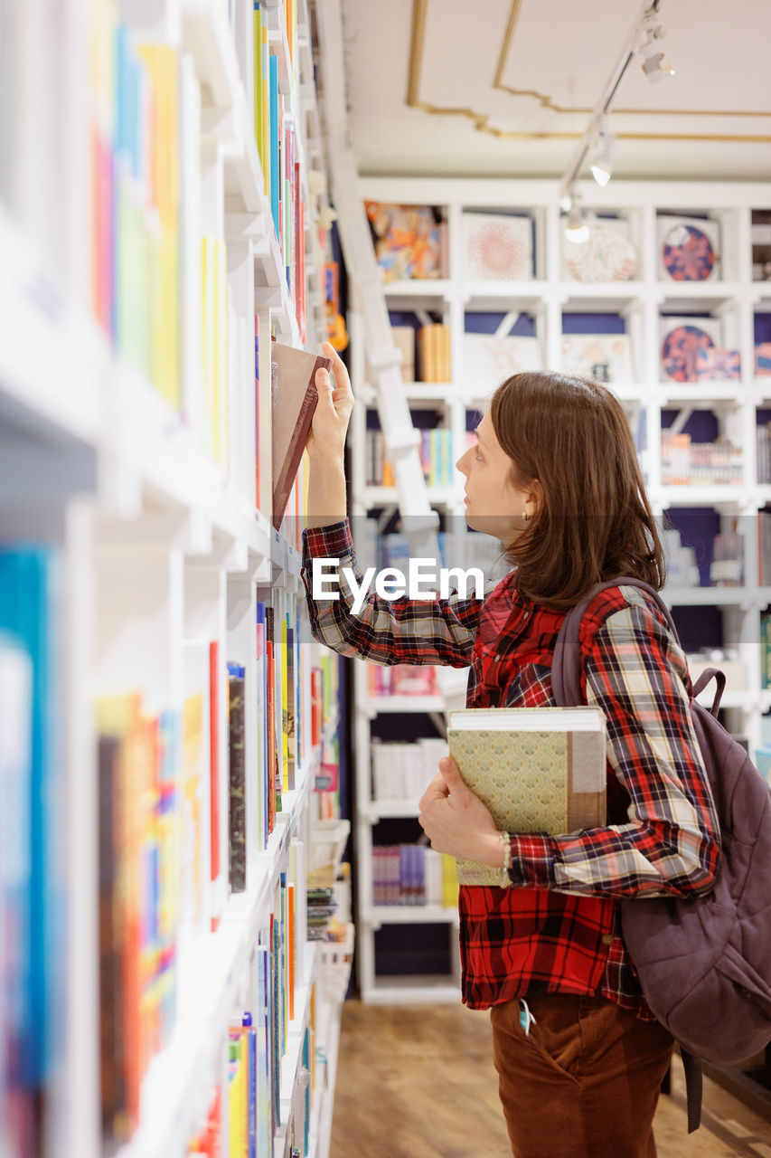
[[[278,46],[279,90],[300,142],[307,345],[318,349],[325,338],[320,270],[324,255],[316,220],[320,198],[309,193],[308,169],[322,167],[322,154],[308,5],[300,0],[296,7],[298,85],[284,2],[272,0],[263,10],[270,41]],[[142,1078],[139,1126],[120,1158],[183,1158],[215,1085],[222,1099],[222,1152],[228,1152],[228,1025],[240,1021],[238,1011],[254,1003],[256,940],[269,926],[278,878],[288,872],[293,850],[300,944],[274,1158],[289,1153],[287,1123],[304,1097],[301,1049],[311,1009],[311,1057],[314,1050],[337,1049],[339,1001],[326,999],[317,988],[318,951],[306,940],[300,902],[306,888],[302,850],[311,841],[315,820],[318,746],[308,742],[266,848],[256,840],[263,720],[256,706],[255,608],[270,593],[281,607],[302,614],[304,596],[296,545],[263,513],[270,511],[271,475],[265,389],[259,395],[259,446],[255,435],[255,316],[263,382],[270,381],[271,334],[299,345],[300,330],[255,142],[252,10],[251,0],[125,0],[119,6],[131,37],[170,46],[179,65],[182,267],[194,267],[203,234],[223,242],[227,252],[221,291],[225,302],[227,288],[229,308],[230,409],[223,417],[237,418],[228,427],[227,453],[219,459],[211,452],[205,418],[200,285],[182,278],[184,417],[145,374],[115,357],[89,307],[94,242],[87,152],[98,116],[87,81],[90,53],[98,50],[89,37],[95,13],[100,19],[113,15],[118,6],[110,0],[91,6],[64,0],[54,19],[34,0],[12,23],[0,17],[0,32],[8,32],[10,51],[19,52],[10,80],[10,115],[16,119],[2,124],[16,152],[0,171],[0,545],[39,541],[59,548],[63,562],[64,703],[53,742],[66,792],[66,957],[60,962],[65,1007],[61,1056],[45,1089],[45,1158],[98,1158],[103,1152],[94,705],[100,697],[139,690],[149,710],[178,712],[190,664],[185,648],[192,640],[215,639],[222,664],[237,658],[245,668],[247,889],[222,895],[215,932],[198,930],[178,943],[176,1023]],[[8,63],[0,51],[0,65]],[[52,139],[58,142],[53,155],[46,148]],[[138,186],[135,195],[141,200],[147,190]],[[296,711],[309,741],[310,666],[317,655],[309,631],[302,648]],[[222,687],[219,736],[220,775],[227,777]],[[206,809],[203,823],[208,823]],[[220,835],[227,886],[227,812]],[[314,1158],[329,1152],[333,1068],[328,1067],[326,1075],[311,1099]]]

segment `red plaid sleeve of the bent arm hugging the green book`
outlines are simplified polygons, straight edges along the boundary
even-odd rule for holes
[[[710,892],[719,824],[691,723],[686,666],[637,588],[601,622],[586,698],[608,724],[608,761],[630,797],[627,824],[568,836],[513,836],[512,882],[592,896]]]

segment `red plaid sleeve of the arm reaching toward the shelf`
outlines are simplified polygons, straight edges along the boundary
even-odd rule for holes
[[[353,611],[353,593],[343,581],[343,567],[352,567],[355,582],[362,581],[348,520],[304,530],[302,579],[316,639],[342,655],[359,655],[375,664],[445,664],[468,667],[479,620],[482,600],[387,600],[369,592],[361,610]],[[339,599],[315,600],[311,589],[313,559],[339,560]]]

